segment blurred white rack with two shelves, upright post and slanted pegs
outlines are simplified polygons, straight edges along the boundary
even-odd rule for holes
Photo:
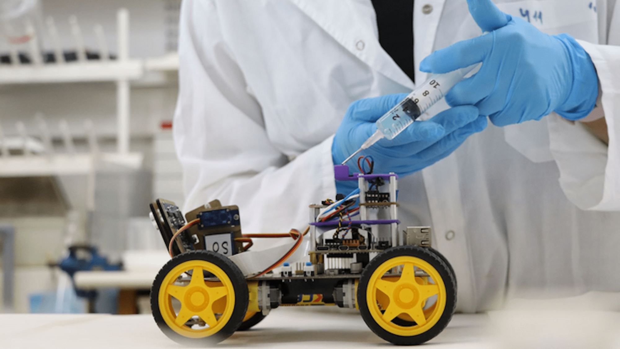
[[[130,81],[143,79],[149,71],[174,71],[178,69],[179,58],[175,53],[164,57],[142,59],[129,58],[129,12],[120,9],[117,12],[117,59],[110,60],[105,35],[100,25],[95,25],[95,34],[99,44],[100,60],[87,60],[83,53],[84,43],[81,39],[81,29],[75,17],[70,17],[69,24],[74,38],[74,45],[78,53],[78,60],[64,61],[63,48],[60,47],[55,22],[48,17],[47,31],[50,41],[54,45],[55,63],[42,63],[40,59],[33,59],[32,63],[20,64],[16,50],[11,51],[12,64],[0,65],[0,84],[53,84],[102,82],[115,83],[117,96],[117,151],[100,153],[97,147],[94,127],[87,120],[86,137],[89,139],[89,152],[76,153],[73,140],[68,130],[64,130],[64,145],[66,152],[55,153],[49,142],[49,135],[45,122],[42,122],[40,134],[22,137],[23,151],[20,155],[10,155],[6,142],[3,143],[2,125],[0,125],[0,177],[2,176],[37,176],[53,174],[89,174],[93,173],[99,161],[115,163],[117,165],[139,168],[143,155],[129,151],[129,124],[130,124]],[[30,45],[30,57],[40,57],[38,45]],[[61,121],[63,124],[64,121]],[[19,124],[19,123],[18,123]],[[66,123],[64,125],[66,129]],[[23,129],[23,125],[21,127]],[[20,127],[18,125],[17,129]],[[63,127],[61,127],[63,129]],[[27,145],[30,136],[37,136],[43,142],[43,152],[31,152]],[[19,153],[19,152],[18,152]]]

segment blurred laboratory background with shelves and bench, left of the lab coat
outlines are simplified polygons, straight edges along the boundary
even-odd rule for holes
[[[149,312],[180,0],[0,0],[0,309]],[[113,272],[111,272],[113,271]]]

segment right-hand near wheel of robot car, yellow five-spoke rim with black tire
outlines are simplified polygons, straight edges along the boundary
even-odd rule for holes
[[[357,296],[374,333],[397,345],[417,345],[448,325],[456,307],[456,280],[438,252],[399,246],[368,263]]]

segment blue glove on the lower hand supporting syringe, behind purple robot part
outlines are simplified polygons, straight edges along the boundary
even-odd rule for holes
[[[340,165],[349,155],[360,148],[377,130],[374,122],[396,106],[407,94],[360,99],[347,110],[332,143],[332,160]],[[432,165],[464,142],[471,134],[487,126],[487,119],[479,116],[474,106],[459,106],[437,114],[428,121],[414,122],[392,140],[383,138],[360,155],[371,155],[374,159],[374,173],[395,172],[406,176]],[[352,172],[358,172],[357,158],[347,165]],[[356,188],[357,182],[337,181],[339,193],[346,194]]]

